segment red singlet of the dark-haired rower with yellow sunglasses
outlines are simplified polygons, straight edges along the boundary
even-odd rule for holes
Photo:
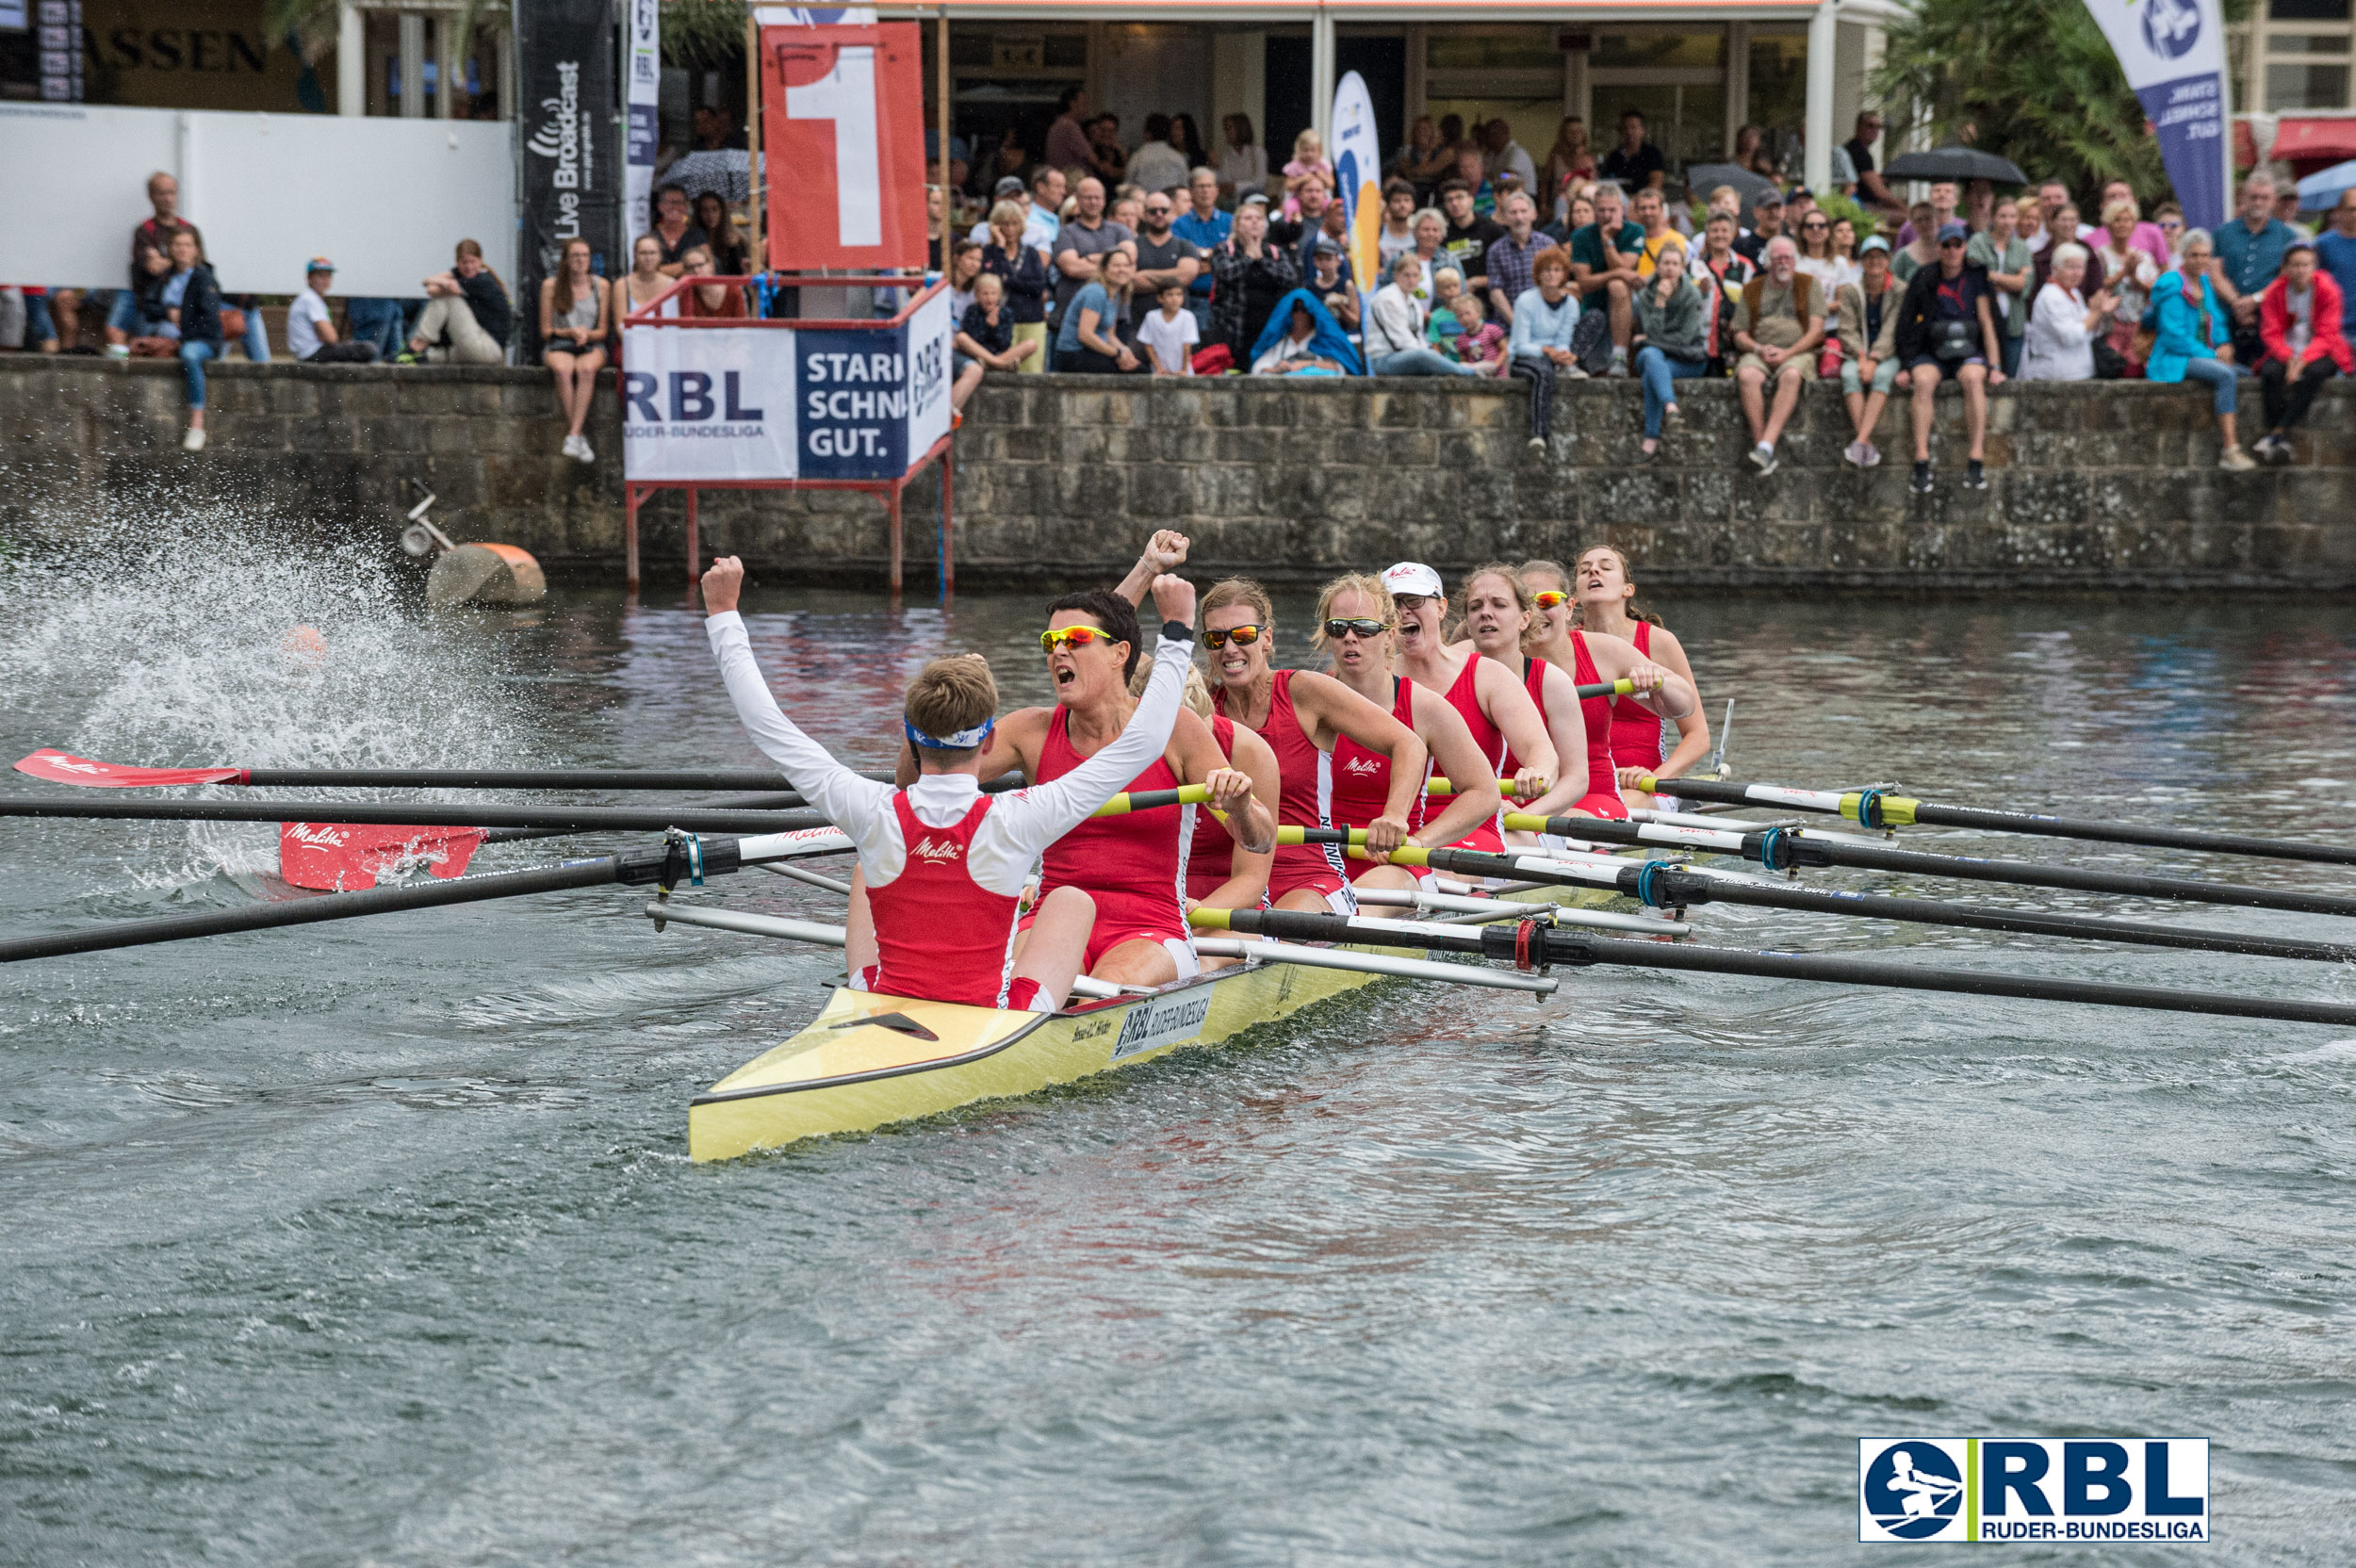
[[[1039,784],[1060,779],[1086,758],[1072,749],[1065,732],[1065,709],[1046,725],[1039,746]],[[1154,758],[1121,789],[1178,789],[1169,758]],[[1107,951],[1131,939],[1185,942],[1185,862],[1192,838],[1192,805],[1157,805],[1119,817],[1088,817],[1058,838],[1039,857],[1039,897],[1055,888],[1079,888],[1096,899],[1096,930],[1088,937],[1088,968]]]

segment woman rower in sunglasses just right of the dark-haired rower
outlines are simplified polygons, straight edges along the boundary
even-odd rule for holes
[[[1256,582],[1230,577],[1202,596],[1211,704],[1277,753],[1277,819],[1291,826],[1333,826],[1333,751],[1343,739],[1388,758],[1390,791],[1383,808],[1364,822],[1366,855],[1383,864],[1407,843],[1430,753],[1388,709],[1374,706],[1333,676],[1270,669],[1275,629],[1277,612]],[[1268,895],[1277,909],[1357,913],[1350,862],[1338,845],[1277,845]]]

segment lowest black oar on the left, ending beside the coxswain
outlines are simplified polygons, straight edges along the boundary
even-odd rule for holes
[[[801,833],[766,833],[754,838],[671,838],[650,850],[624,850],[596,859],[570,859],[561,866],[535,871],[497,871],[490,876],[462,876],[448,883],[417,883],[412,888],[372,888],[368,892],[330,892],[316,899],[287,899],[283,904],[252,904],[247,909],[219,909],[196,916],[165,916],[158,921],[115,921],[87,930],[66,930],[52,937],[14,937],[0,942],[0,963],[21,958],[57,958],[64,954],[97,954],[113,946],[148,946],[153,942],[184,942],[188,937],[221,937],[240,930],[271,930],[278,925],[311,925],[316,921],[349,921],[356,916],[396,913],[401,909],[436,909],[441,904],[476,904],[483,899],[509,899],[525,892],[561,892],[565,888],[598,888],[605,883],[646,885],[700,883],[707,876],[726,876],[740,866],[756,866],[770,859],[799,855],[825,855],[848,848],[848,838],[834,829]]]

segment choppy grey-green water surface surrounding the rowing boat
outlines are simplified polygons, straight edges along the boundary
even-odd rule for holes
[[[398,579],[266,556],[9,596],[9,758],[754,760],[681,607],[434,624]],[[752,610],[860,760],[938,650],[1044,690],[1027,596]],[[1739,699],[1743,777],[2356,841],[2347,610],[1666,610]],[[297,619],[325,666],[280,650]],[[266,829],[0,824],[0,925],[233,906],[266,866]],[[780,878],[712,897],[834,918]],[[657,937],[638,902],[0,970],[0,1561],[1816,1563],[1861,1554],[1866,1434],[2212,1436],[2208,1561],[2356,1544],[2344,1034],[1628,972],[1385,989],[695,1168],[688,1095],[839,965]],[[2356,1001],[2323,965],[1699,918]]]

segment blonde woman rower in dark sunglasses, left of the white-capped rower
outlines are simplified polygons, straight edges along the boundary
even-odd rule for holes
[[[1430,763],[1416,779],[1416,803],[1407,817],[1407,843],[1440,848],[1456,843],[1496,817],[1496,768],[1472,744],[1472,730],[1440,692],[1425,690],[1404,676],[1395,676],[1390,664],[1397,655],[1397,610],[1378,577],[1352,572],[1336,577],[1317,596],[1317,631],[1310,638],[1324,650],[1336,680],[1416,732]],[[1423,793],[1430,768],[1437,763],[1454,784],[1463,786],[1444,810],[1430,815]],[[1333,742],[1333,826],[1366,826],[1390,803],[1390,758],[1369,751],[1355,739]],[[1428,819],[1430,817],[1430,819]],[[1352,859],[1350,876],[1359,888],[1414,888],[1418,871],[1409,866],[1378,866],[1371,859]]]

